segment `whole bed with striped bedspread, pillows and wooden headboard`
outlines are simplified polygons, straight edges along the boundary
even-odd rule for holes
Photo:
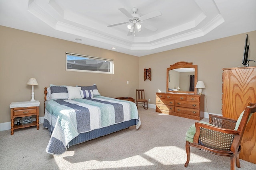
[[[49,154],[60,155],[67,148],[126,129],[141,121],[136,104],[101,96],[93,86],[44,88],[44,124],[50,133]]]

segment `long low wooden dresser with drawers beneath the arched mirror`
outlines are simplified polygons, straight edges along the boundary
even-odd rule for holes
[[[204,95],[156,93],[156,112],[201,120],[204,118]]]

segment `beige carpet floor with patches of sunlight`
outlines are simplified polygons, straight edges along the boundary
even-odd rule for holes
[[[48,129],[29,127],[0,132],[1,170],[229,170],[230,158],[191,148],[188,168],[185,133],[192,119],[139,107],[142,125],[71,146],[60,156],[47,154]],[[203,119],[208,121],[208,119]],[[256,164],[240,160],[239,170]]]

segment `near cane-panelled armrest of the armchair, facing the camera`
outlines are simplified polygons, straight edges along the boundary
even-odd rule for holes
[[[195,123],[196,134],[193,143],[216,150],[230,150],[235,135],[240,131]]]

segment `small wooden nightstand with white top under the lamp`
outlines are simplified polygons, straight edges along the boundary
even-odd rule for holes
[[[10,104],[11,109],[11,135],[13,135],[14,129],[20,129],[24,127],[37,126],[39,129],[39,105],[40,102],[12,102]],[[36,121],[32,123],[14,125],[14,119],[17,117],[25,117],[36,115]]]

